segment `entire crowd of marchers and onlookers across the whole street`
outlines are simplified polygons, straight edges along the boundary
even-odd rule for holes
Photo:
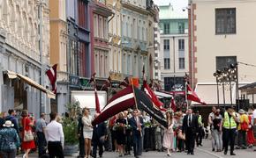
[[[203,118],[199,111],[188,109],[183,112],[165,111],[167,126],[162,126],[145,111],[138,109],[118,113],[92,126],[94,118],[89,108],[84,108],[78,119],[79,157],[102,157],[103,151],[117,152],[119,157],[130,155],[138,158],[149,150],[165,151],[168,156],[173,152],[194,154],[195,145],[202,146],[205,135]],[[64,157],[64,131],[56,112],[46,115],[41,113],[39,119],[26,110],[17,117],[15,110],[0,115],[0,155],[13,158],[19,150],[28,158],[31,151],[38,149],[39,157],[46,153],[49,157]],[[252,147],[254,143],[253,127],[256,124],[256,110],[235,111],[228,106],[226,110],[212,108],[208,115],[208,127],[212,139],[212,151],[236,155],[235,149]],[[238,139],[239,138],[239,139]],[[133,152],[132,152],[133,150]]]

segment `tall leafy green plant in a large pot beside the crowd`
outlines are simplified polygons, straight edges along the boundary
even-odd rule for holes
[[[78,130],[78,113],[79,102],[66,105],[66,111],[62,118],[64,130],[64,155],[73,155],[78,151],[79,139]]]

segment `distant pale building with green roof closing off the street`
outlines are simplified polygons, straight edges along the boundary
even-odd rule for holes
[[[164,90],[184,90],[184,75],[189,72],[188,18],[172,5],[160,6],[161,79]]]

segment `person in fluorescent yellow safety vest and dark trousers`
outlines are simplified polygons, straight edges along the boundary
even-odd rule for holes
[[[228,147],[230,145],[230,155],[236,155],[234,153],[234,146],[238,118],[236,117],[235,111],[231,106],[228,106],[227,110],[224,112],[222,122],[224,154],[228,153]]]

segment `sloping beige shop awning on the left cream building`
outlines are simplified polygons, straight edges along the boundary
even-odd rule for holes
[[[49,98],[55,98],[56,97],[56,95],[52,91],[47,90],[46,88],[41,86],[39,83],[34,82],[34,80],[28,78],[25,75],[20,75],[18,73],[15,73],[15,72],[9,71],[9,70],[6,71],[6,75],[8,75],[8,77],[11,78],[11,79],[19,78],[20,80],[23,80],[24,82],[33,86],[34,88],[36,88],[38,90],[41,90],[44,93],[46,93],[47,97],[49,97]]]

